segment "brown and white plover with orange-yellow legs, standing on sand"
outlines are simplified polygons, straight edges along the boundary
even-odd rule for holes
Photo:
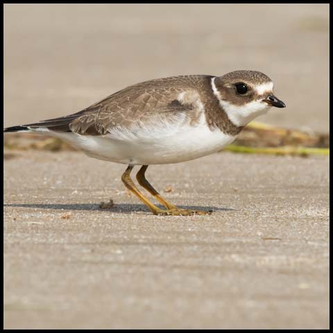
[[[271,107],[285,106],[273,94],[271,78],[260,71],[171,76],[131,85],[80,112],[3,132],[58,137],[89,157],[126,164],[123,184],[155,215],[204,215],[212,211],[185,210],[169,203],[146,180],[148,166],[221,151],[250,121]],[[141,166],[137,182],[163,209],[133,182],[130,173],[135,166]]]

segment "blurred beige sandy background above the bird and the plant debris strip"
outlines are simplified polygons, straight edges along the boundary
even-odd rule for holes
[[[4,123],[71,114],[181,74],[263,71],[287,104],[260,120],[329,130],[328,4],[4,5]]]

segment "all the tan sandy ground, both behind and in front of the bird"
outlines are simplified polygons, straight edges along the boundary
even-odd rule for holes
[[[287,104],[258,120],[328,132],[329,15],[328,4],[5,4],[4,124],[151,78],[255,69]],[[215,211],[190,217],[151,215],[123,166],[77,152],[8,152],[4,168],[5,328],[329,327],[327,157],[150,167],[169,200]]]

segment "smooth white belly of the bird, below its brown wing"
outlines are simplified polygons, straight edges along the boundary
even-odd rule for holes
[[[46,134],[46,133],[44,133]],[[47,133],[51,134],[51,133]],[[168,164],[194,160],[220,151],[236,136],[226,135],[206,124],[191,127],[183,124],[172,128],[114,131],[91,136],[74,133],[52,133],[99,160],[123,164]]]

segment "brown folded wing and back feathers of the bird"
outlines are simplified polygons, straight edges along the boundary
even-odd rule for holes
[[[115,128],[144,128],[155,121],[192,121],[198,114],[200,94],[190,82],[189,76],[146,81],[122,89],[75,114],[25,126],[80,135],[105,135],[114,133]]]

